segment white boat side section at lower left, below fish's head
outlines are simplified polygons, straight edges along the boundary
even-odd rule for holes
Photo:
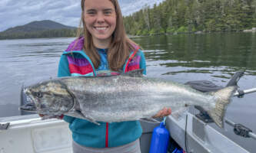
[[[0,131],[0,153],[71,153],[71,132],[68,123],[57,120],[42,120],[38,115],[30,115],[31,119],[12,121],[7,130]],[[11,121],[10,121],[11,120]],[[4,120],[0,120],[3,124]]]

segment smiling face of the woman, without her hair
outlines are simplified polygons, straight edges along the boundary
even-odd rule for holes
[[[115,6],[109,0],[85,0],[85,26],[94,43],[110,42],[116,27]]]

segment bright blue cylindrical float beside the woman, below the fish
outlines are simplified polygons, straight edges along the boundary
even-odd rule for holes
[[[154,129],[149,153],[166,153],[169,138],[170,134],[165,128],[165,122],[161,122],[160,125]]]

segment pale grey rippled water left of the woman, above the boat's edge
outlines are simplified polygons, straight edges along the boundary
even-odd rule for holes
[[[74,38],[0,41],[0,117],[18,116],[20,90],[57,75],[62,51]]]

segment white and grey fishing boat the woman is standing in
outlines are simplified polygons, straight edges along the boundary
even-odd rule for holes
[[[235,73],[227,86],[235,85],[242,72]],[[201,81],[203,86],[191,82],[190,85],[197,90],[218,90],[221,86],[215,86],[209,82]],[[188,83],[189,84],[189,83]],[[205,86],[205,84],[207,86]],[[209,88],[209,86],[211,86]],[[234,96],[242,96],[247,93],[254,93],[256,89],[238,91]],[[197,110],[189,111],[181,119],[167,116],[166,129],[170,132],[170,145],[175,144],[175,148],[181,148],[184,152],[196,153],[249,153],[246,148],[232,141],[230,138],[218,132],[208,123],[211,122],[207,112],[200,107],[191,108]],[[161,119],[160,119],[161,121]],[[243,137],[253,138],[256,135],[243,125],[225,120],[228,125],[234,126],[234,132]],[[143,133],[140,138],[141,153],[148,153],[151,145],[151,135],[155,127],[160,122],[141,121]],[[254,141],[254,140],[252,140]],[[68,123],[60,119],[42,120],[37,114],[26,116],[13,116],[0,118],[0,153],[71,153],[71,132]],[[168,152],[175,152],[174,146]]]

